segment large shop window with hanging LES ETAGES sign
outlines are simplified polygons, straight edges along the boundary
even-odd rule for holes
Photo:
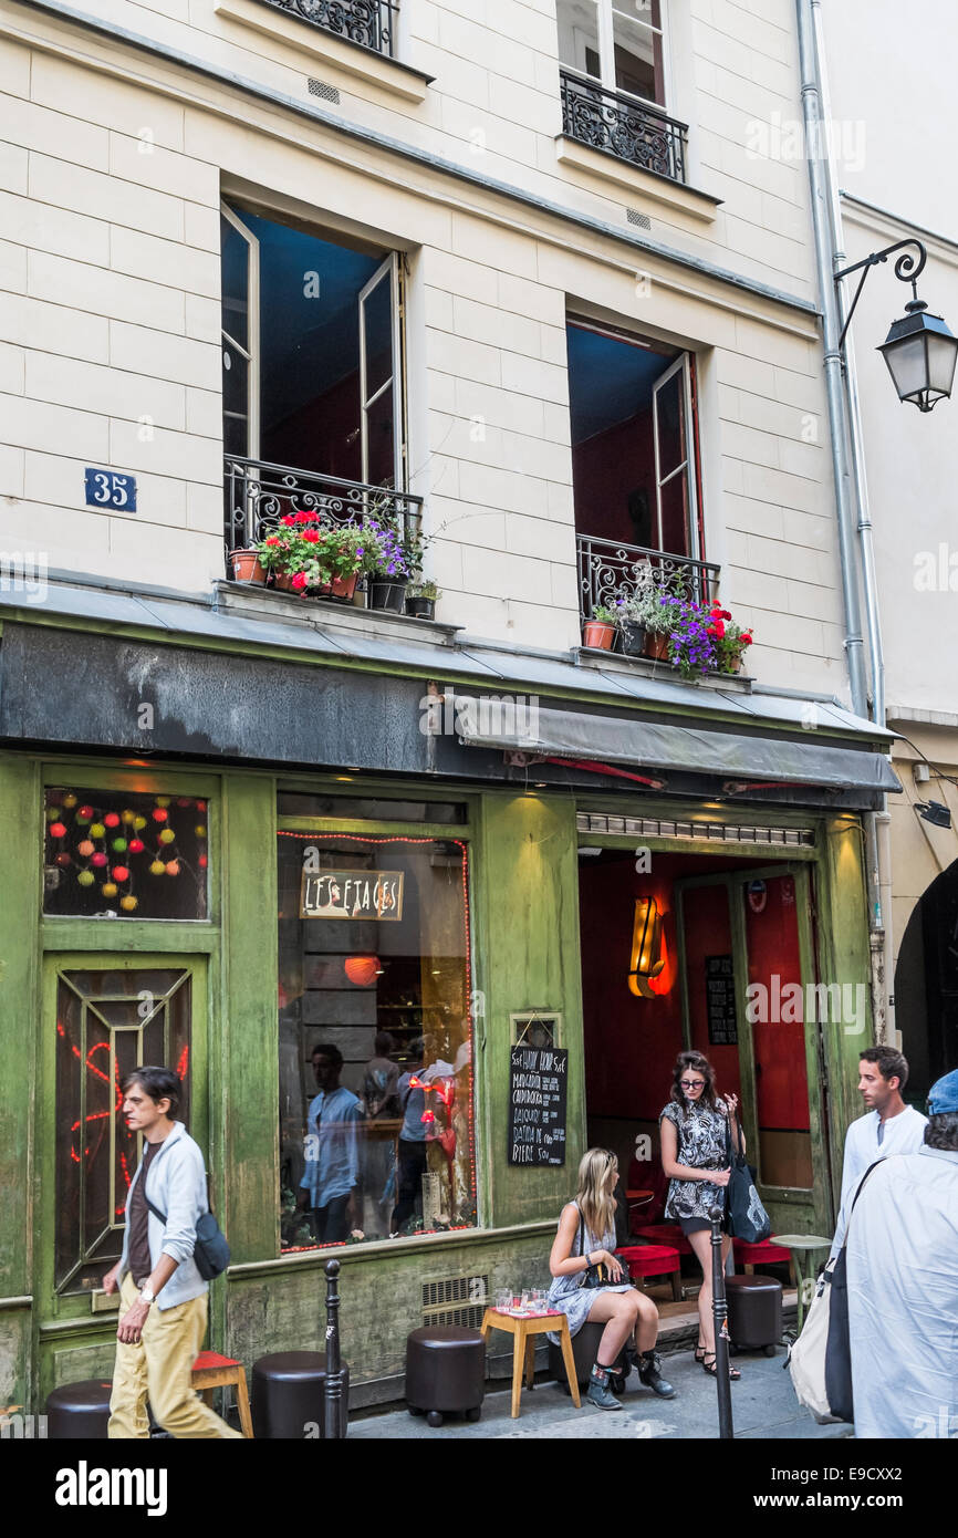
[[[466,844],[277,843],[283,1250],[475,1224]]]

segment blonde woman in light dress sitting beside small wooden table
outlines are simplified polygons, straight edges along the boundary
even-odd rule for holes
[[[670,1400],[675,1389],[666,1383],[655,1355],[658,1309],[650,1298],[629,1281],[615,1249],[615,1201],[612,1192],[618,1180],[618,1160],[609,1149],[589,1149],[578,1166],[575,1200],[563,1207],[558,1233],[549,1255],[554,1281],[549,1307],[560,1309],[569,1320],[569,1333],[577,1335],[586,1320],[604,1324],[598,1355],[589,1377],[586,1398],[600,1410],[620,1410],[621,1404],[609,1389],[609,1369],[626,1341],[635,1338],[638,1377]],[[604,1287],[583,1287],[589,1266],[604,1266],[612,1281]],[[552,1337],[558,1344],[558,1337]]]

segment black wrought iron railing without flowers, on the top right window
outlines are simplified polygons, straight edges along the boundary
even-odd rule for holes
[[[564,69],[560,82],[563,132],[569,138],[672,181],[686,180],[687,123]]]

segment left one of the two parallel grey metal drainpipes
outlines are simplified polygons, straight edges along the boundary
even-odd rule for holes
[[[835,251],[829,205],[829,177],[824,166],[829,157],[821,155],[824,145],[824,112],[818,85],[817,35],[812,14],[813,0],[797,0],[798,62],[801,77],[801,112],[809,163],[809,188],[812,205],[812,231],[815,235],[815,266],[823,314],[824,378],[829,409],[829,437],[832,446],[832,472],[835,478],[835,503],[838,523],[838,557],[841,561],[841,592],[844,600],[846,655],[849,660],[849,683],[855,714],[869,718],[869,691],[864,666],[864,640],[861,635],[861,609],[858,603],[858,571],[855,541],[852,538],[850,475],[847,458],[847,400],[843,378],[838,337],[841,320],[835,292]],[[823,165],[824,160],[824,165]],[[858,492],[860,484],[855,486]],[[858,498],[857,498],[858,500]],[[869,637],[870,638],[870,637]],[[884,924],[881,912],[881,874],[878,869],[878,837],[875,814],[867,812],[864,823],[864,864],[869,895],[869,946],[872,974],[872,1018],[875,1040],[886,1038],[884,983]]]

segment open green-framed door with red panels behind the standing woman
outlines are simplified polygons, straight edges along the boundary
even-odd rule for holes
[[[677,881],[686,1043],[737,1090],[758,1190],[783,1232],[832,1232],[809,872]]]

